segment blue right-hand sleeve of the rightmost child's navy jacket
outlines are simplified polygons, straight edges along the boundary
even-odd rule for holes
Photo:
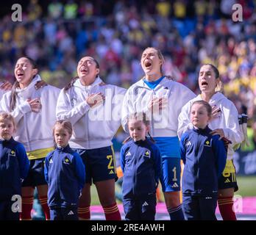
[[[214,139],[213,148],[214,148],[214,153],[216,155],[217,173],[218,173],[218,177],[220,177],[226,166],[227,151],[226,151],[224,142],[222,140],[218,140],[218,138],[219,136],[216,136],[216,138]]]

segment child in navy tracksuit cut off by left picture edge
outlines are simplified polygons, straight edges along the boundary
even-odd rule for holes
[[[0,113],[0,220],[19,220],[21,181],[29,172],[24,145],[13,140],[12,115]],[[15,196],[14,196],[15,195]],[[13,197],[14,196],[14,197]]]

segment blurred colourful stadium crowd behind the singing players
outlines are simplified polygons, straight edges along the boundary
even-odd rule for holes
[[[243,21],[232,21],[232,5]],[[105,82],[129,87],[143,75],[141,53],[160,48],[166,75],[199,93],[203,63],[221,73],[225,94],[256,121],[256,1],[41,1],[22,6],[22,21],[0,21],[0,79],[13,82],[16,59],[38,62],[46,82],[63,87],[80,57],[99,60]],[[256,126],[255,126],[256,130]],[[255,131],[256,132],[256,131]],[[256,142],[256,134],[255,134]]]

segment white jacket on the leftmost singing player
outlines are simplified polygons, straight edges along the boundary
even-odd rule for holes
[[[40,80],[40,76],[37,75],[28,87],[16,88],[16,105],[12,112],[10,91],[4,94],[0,102],[0,110],[13,115],[17,126],[15,140],[23,143],[26,151],[53,147],[52,128],[56,121],[55,108],[60,89],[47,85],[35,90],[35,84]],[[39,112],[32,112],[26,101],[28,98],[40,98],[42,109]]]

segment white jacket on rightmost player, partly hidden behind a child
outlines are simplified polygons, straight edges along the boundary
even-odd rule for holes
[[[202,100],[201,95],[198,95],[182,108],[182,112],[179,115],[179,138],[185,131],[192,128],[190,119],[191,105],[194,101],[200,100]],[[238,123],[238,110],[236,109],[235,104],[222,93],[215,93],[213,97],[210,98],[209,104],[210,106],[216,105],[221,108],[220,115],[213,120],[210,120],[208,126],[212,130],[223,129],[225,137],[232,141],[232,144],[229,145],[227,151],[227,159],[232,159],[232,156],[234,155],[234,145],[243,141],[243,133],[241,132]]]

